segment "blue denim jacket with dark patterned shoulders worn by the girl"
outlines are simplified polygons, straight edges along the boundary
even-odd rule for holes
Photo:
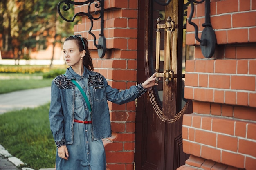
[[[73,143],[75,85],[70,81],[74,76],[69,69],[65,75],[54,78],[51,87],[49,121],[57,147]],[[124,104],[139,98],[146,89],[141,84],[126,90],[112,88],[101,74],[86,68],[84,76],[88,78],[86,89],[92,107],[92,140],[108,138],[111,136],[111,125],[107,100]]]

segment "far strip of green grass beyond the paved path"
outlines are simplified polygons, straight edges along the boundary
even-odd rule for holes
[[[0,81],[0,94],[13,92],[16,90],[24,89],[35,89],[40,87],[49,87],[51,86],[52,79],[42,79],[42,80],[33,80],[33,79],[10,79],[10,80],[1,80]]]

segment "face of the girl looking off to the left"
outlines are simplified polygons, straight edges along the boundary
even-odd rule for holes
[[[78,46],[74,40],[67,40],[63,44],[64,59],[68,66],[82,66],[81,57],[85,55],[85,50],[79,52]]]

